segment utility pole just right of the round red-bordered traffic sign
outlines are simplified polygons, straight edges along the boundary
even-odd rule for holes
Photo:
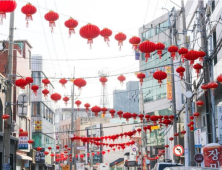
[[[183,44],[184,47],[188,49],[187,44],[187,30],[186,30],[186,18],[185,18],[185,7],[184,7],[184,0],[181,0],[181,10],[182,10],[182,22],[183,22]],[[185,68],[186,68],[186,91],[192,91],[190,87],[190,66],[189,61],[185,61]],[[195,148],[194,148],[194,134],[190,132],[190,129],[188,126],[186,126],[189,122],[189,117],[192,114],[191,109],[191,98],[186,98],[186,113],[185,113],[185,121],[184,121],[184,127],[186,130],[186,134],[184,135],[184,147],[185,147],[185,166],[194,166],[194,155],[195,155]],[[186,160],[187,159],[187,160]]]

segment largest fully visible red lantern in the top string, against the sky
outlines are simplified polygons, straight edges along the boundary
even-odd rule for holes
[[[80,28],[79,30],[79,34],[81,35],[81,37],[88,40],[87,44],[90,44],[90,49],[93,43],[93,39],[98,37],[99,33],[100,33],[99,27],[92,24],[87,24],[82,28]]]

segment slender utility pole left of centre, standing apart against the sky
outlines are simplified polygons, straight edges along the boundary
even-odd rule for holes
[[[75,67],[74,67],[74,74],[73,74],[73,76],[74,76],[74,78],[75,78]],[[73,81],[74,81],[74,79],[73,79]],[[74,82],[72,83],[72,89],[71,89],[71,132],[73,132],[74,131],[74,119],[73,119],[73,117],[74,117],[74,91],[75,91],[75,88],[74,88]],[[73,145],[74,145],[74,142],[71,140],[71,154],[73,154],[72,156],[73,156],[73,158],[75,159],[75,147],[73,147]],[[74,163],[74,165],[76,165],[76,160],[74,161],[75,163]],[[73,161],[72,162],[70,162],[70,167],[69,167],[69,169],[70,170],[72,170],[72,165],[73,165]]]

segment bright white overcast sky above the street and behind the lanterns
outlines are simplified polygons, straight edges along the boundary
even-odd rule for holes
[[[98,71],[105,70],[109,75],[138,71],[139,62],[135,60],[129,38],[134,35],[139,36],[138,29],[143,24],[166,13],[161,9],[162,7],[170,10],[175,6],[170,0],[31,0],[32,5],[37,7],[37,13],[33,15],[33,21],[26,28],[25,15],[21,13],[21,7],[27,2],[30,1],[17,0],[15,40],[28,40],[33,46],[32,54],[43,56],[44,72],[48,77],[72,77],[74,67],[76,78],[95,77],[86,79],[87,86],[83,88],[79,97],[83,104],[88,102],[91,105],[100,105],[101,83]],[[174,0],[174,2],[180,5],[180,0]],[[49,23],[44,19],[44,15],[49,10],[59,13],[59,20],[56,21],[53,34]],[[68,35],[68,28],[64,26],[64,22],[69,17],[79,22],[75,29],[76,34],[71,38]],[[1,40],[8,38],[9,18],[10,15],[7,14],[3,25],[0,25]],[[90,50],[87,40],[79,35],[79,29],[87,23],[95,24],[100,29],[107,27],[113,31],[110,47],[99,36],[93,40]],[[127,35],[121,51],[119,51],[118,42],[114,39],[118,32]],[[126,81],[137,80],[133,73],[124,75]],[[51,79],[51,81],[56,87],[56,92],[62,96],[70,95],[71,83],[64,89],[58,83],[59,79]],[[113,90],[124,89],[125,86],[122,87],[116,77],[108,77],[107,88],[110,107],[112,107]],[[77,88],[75,91],[78,93]],[[63,106],[62,101],[60,105]]]

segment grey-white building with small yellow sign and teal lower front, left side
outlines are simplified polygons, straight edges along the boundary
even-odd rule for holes
[[[43,148],[41,152],[44,152],[45,149],[51,147],[51,151],[55,152],[55,103],[50,100],[50,96],[44,97],[42,94],[44,88],[47,88],[49,94],[52,94],[54,87],[51,83],[48,84],[48,87],[44,87],[42,83],[42,80],[47,78],[43,71],[42,56],[32,55],[31,66],[33,84],[39,86],[37,95],[33,93],[31,96],[32,138],[35,141],[33,148],[41,146]],[[38,154],[36,154],[36,164],[32,165],[33,168],[38,170],[43,167],[52,168],[54,166],[50,154],[47,156],[43,154],[42,159],[38,159]]]

